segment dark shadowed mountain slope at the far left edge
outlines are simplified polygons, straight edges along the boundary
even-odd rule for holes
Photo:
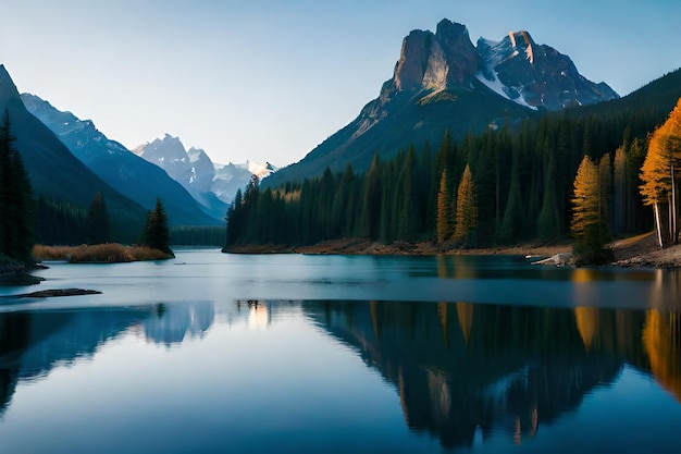
[[[99,192],[114,228],[139,234],[146,210],[97,176],[28,112],[4,65],[0,65],[0,112],[4,110],[36,197],[87,208]]]

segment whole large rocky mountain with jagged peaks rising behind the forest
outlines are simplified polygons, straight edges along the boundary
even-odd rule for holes
[[[393,78],[348,125],[299,162],[268,179],[276,185],[321,174],[326,167],[368,169],[375,152],[391,158],[410,144],[439,144],[546,111],[617,98],[605,83],[579,74],[569,57],[536,45],[529,33],[474,46],[465,25],[443,20],[435,33],[404,40]]]

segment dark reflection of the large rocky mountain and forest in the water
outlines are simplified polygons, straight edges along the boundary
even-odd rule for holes
[[[483,438],[533,437],[626,364],[651,373],[643,311],[395,302],[305,310],[395,384],[409,428],[445,447],[472,444],[476,427]],[[670,360],[669,352],[655,357]],[[657,368],[666,388],[681,381],[679,370]]]

